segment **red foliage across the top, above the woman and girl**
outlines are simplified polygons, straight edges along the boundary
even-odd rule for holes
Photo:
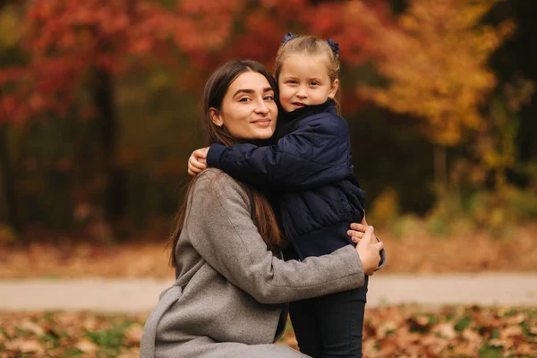
[[[360,4],[356,7],[352,4]],[[354,9],[354,10],[353,10]],[[30,62],[0,71],[0,124],[21,123],[48,111],[63,115],[93,69],[112,74],[172,50],[191,59],[187,79],[229,58],[271,65],[291,30],[334,38],[342,60],[358,64],[373,55],[362,17],[388,19],[384,1],[311,5],[308,0],[183,0],[168,9],[142,0],[35,0],[23,19],[22,48]],[[242,25],[242,26],[241,26]],[[138,60],[138,61],[137,61]],[[188,81],[188,80],[187,80]]]

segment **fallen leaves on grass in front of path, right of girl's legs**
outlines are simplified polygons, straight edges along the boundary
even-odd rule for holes
[[[535,309],[371,309],[364,324],[364,354],[371,358],[529,357],[537,352],[537,336],[531,332],[535,325]]]

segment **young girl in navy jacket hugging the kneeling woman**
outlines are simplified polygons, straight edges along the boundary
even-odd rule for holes
[[[348,127],[337,115],[338,72],[338,46],[332,40],[287,34],[276,59],[281,107],[274,144],[214,144],[189,160],[191,174],[207,163],[264,191],[291,243],[286,260],[353,244],[347,228],[364,219],[364,192],[354,178]],[[367,278],[351,291],[291,303],[301,352],[361,357],[366,292]]]

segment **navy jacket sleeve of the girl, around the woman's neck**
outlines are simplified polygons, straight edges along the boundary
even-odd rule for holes
[[[279,190],[311,189],[352,174],[349,141],[343,118],[306,118],[294,132],[268,147],[213,144],[207,163],[244,183]]]

